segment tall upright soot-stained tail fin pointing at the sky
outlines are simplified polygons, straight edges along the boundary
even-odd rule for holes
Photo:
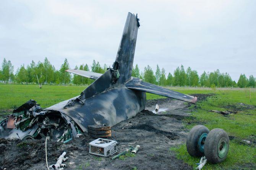
[[[117,57],[115,59],[115,63],[118,63],[118,68],[116,69],[118,69],[120,73],[118,83],[125,83],[131,79],[138,28],[139,19],[137,15],[135,16],[132,13],[128,13]]]

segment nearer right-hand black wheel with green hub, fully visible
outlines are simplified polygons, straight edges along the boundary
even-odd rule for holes
[[[205,140],[204,155],[212,164],[226,159],[229,149],[229,138],[223,129],[212,129]]]

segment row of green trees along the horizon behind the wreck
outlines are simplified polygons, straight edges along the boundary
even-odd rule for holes
[[[42,84],[91,84],[93,80],[84,78],[79,75],[71,75],[65,70],[69,69],[68,60],[65,59],[59,70],[50,64],[47,57],[45,57],[44,62],[35,63],[33,60],[26,67],[21,65],[14,73],[14,67],[10,60],[3,59],[2,67],[0,68],[0,81],[3,83],[25,83],[33,84],[36,83],[39,87]],[[91,67],[87,64],[82,64],[75,68],[85,71],[92,71],[96,73],[104,73],[107,71],[107,65],[104,64],[103,67],[99,62],[93,60]],[[154,72],[152,68],[147,65],[143,71],[139,70],[138,64],[133,67],[132,76],[141,78],[146,82],[156,84],[159,86],[188,86],[188,87],[256,87],[256,78],[253,75],[249,76],[249,79],[245,74],[241,74],[238,82],[232,80],[228,73],[220,73],[217,69],[213,72],[204,71],[204,73],[199,76],[196,70],[192,70],[188,67],[186,70],[181,65],[177,67],[176,70],[168,73],[165,76],[165,69],[160,69],[157,65],[156,71]]]

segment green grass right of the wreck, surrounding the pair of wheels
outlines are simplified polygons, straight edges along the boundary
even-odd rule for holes
[[[204,92],[214,92],[216,95],[210,97],[207,101],[198,102],[196,110],[193,110],[192,116],[183,120],[186,128],[191,129],[197,124],[203,124],[209,130],[214,128],[224,129],[228,135],[235,137],[230,141],[230,149],[227,159],[220,164],[207,163],[203,168],[205,170],[215,169],[253,169],[256,166],[256,147],[255,144],[247,146],[242,140],[256,141],[256,109],[245,109],[236,114],[223,116],[222,114],[211,112],[211,110],[226,111],[232,108],[225,108],[227,105],[236,106],[237,103],[245,103],[256,106],[256,90],[251,89],[251,98],[249,89],[217,89],[200,92],[200,90],[178,89],[177,91],[196,94]],[[186,145],[180,145],[170,148],[174,151],[178,159],[184,160],[187,164],[197,167],[200,158],[191,157],[186,151]]]

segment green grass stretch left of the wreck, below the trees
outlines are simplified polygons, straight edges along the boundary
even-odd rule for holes
[[[0,110],[13,109],[30,99],[36,100],[42,108],[80,95],[86,86],[50,86],[0,84]]]

